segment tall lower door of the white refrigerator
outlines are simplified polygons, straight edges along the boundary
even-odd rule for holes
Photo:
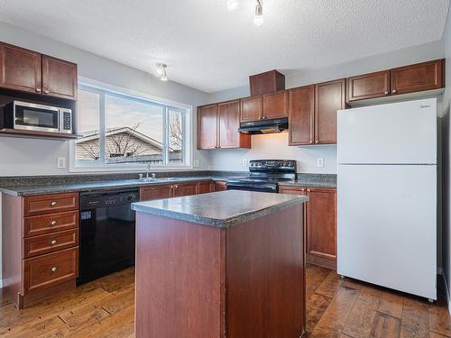
[[[437,167],[338,166],[337,272],[437,299]]]

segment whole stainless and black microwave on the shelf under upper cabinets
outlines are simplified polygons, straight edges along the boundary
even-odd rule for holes
[[[13,101],[5,105],[0,129],[72,133],[72,123],[72,110],[69,108]]]

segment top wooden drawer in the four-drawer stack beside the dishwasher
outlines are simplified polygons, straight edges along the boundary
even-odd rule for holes
[[[78,193],[28,196],[23,198],[23,215],[44,215],[78,209]]]

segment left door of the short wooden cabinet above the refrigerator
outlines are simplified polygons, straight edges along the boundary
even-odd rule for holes
[[[347,101],[390,96],[390,70],[347,78]]]

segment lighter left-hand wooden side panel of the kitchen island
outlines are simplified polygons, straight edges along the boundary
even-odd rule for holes
[[[136,213],[136,338],[224,336],[225,231]]]

